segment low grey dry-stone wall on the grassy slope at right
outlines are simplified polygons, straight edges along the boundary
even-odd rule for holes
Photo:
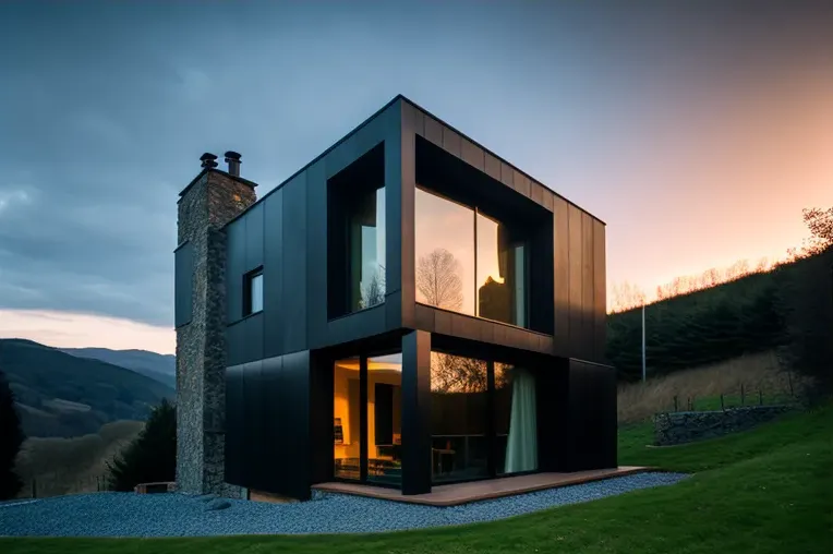
[[[725,411],[657,413],[654,416],[654,445],[685,444],[746,431],[792,409],[792,406],[748,406]]]

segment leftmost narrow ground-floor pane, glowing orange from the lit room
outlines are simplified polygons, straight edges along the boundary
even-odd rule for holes
[[[337,361],[333,384],[334,475],[358,480],[361,456],[359,358]]]

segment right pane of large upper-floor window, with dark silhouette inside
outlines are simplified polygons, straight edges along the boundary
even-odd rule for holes
[[[478,315],[526,327],[523,245],[506,226],[478,214]]]

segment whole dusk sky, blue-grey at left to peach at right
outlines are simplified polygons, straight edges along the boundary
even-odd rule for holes
[[[833,206],[833,2],[0,2],[0,337],[173,352],[179,191],[263,195],[403,94],[607,224],[644,290]]]

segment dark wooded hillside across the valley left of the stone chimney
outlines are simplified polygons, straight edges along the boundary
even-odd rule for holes
[[[173,389],[135,371],[31,340],[0,339],[0,369],[26,436],[77,436],[117,420],[144,420]]]

